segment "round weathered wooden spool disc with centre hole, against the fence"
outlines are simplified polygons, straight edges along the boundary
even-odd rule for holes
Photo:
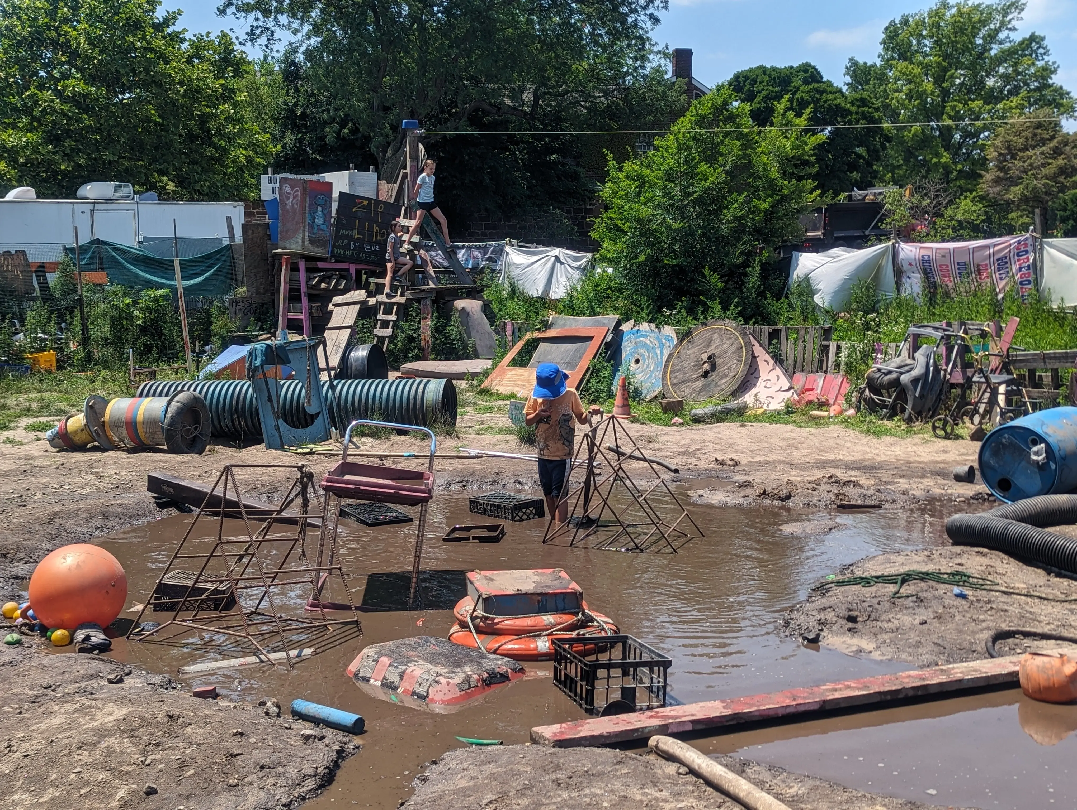
[[[693,327],[662,365],[667,399],[699,402],[732,394],[752,366],[752,342],[731,321],[709,321]]]

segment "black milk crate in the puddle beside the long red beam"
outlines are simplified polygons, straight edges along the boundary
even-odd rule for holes
[[[588,714],[663,708],[672,663],[632,636],[554,639],[554,683]]]

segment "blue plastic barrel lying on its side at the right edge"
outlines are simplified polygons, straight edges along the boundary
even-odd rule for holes
[[[980,444],[980,478],[999,500],[1077,489],[1077,408],[1049,408],[994,428]]]

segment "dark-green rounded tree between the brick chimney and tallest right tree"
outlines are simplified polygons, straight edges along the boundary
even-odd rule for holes
[[[881,127],[840,128],[830,125],[882,124],[878,101],[857,91],[847,94],[823,79],[810,62],[785,68],[760,65],[729,77],[729,87],[751,104],[756,126],[773,123],[774,110],[783,100],[788,109],[809,124],[826,127],[815,146],[812,180],[824,194],[841,194],[876,184],[879,164],[890,134]]]

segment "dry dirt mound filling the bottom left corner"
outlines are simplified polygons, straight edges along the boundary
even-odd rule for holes
[[[0,655],[5,810],[298,807],[359,751],[286,707],[197,699],[167,676],[47,654],[43,641]]]

